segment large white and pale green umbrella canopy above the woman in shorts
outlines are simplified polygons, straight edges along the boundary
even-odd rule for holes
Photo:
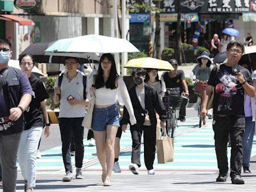
[[[128,40],[109,36],[88,34],[73,38],[60,39],[45,50],[46,55],[52,52],[139,52]],[[53,53],[55,55],[55,53]]]

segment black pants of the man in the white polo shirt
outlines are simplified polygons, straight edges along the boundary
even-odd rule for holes
[[[62,141],[62,158],[65,171],[72,172],[70,145],[72,133],[75,144],[75,167],[82,167],[83,159],[83,126],[81,125],[83,117],[78,118],[59,118],[58,124]]]

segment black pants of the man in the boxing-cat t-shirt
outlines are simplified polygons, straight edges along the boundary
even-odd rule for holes
[[[242,135],[245,120],[241,116],[213,115],[212,127],[214,130],[215,151],[219,173],[227,173],[227,140],[230,135],[231,157],[230,177],[241,174],[242,166]]]

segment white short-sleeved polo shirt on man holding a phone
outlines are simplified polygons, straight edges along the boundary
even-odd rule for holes
[[[63,78],[60,85],[60,106],[58,117],[84,117],[85,105],[70,105],[67,102],[67,97],[72,95],[77,100],[83,99],[83,84],[82,84],[82,74],[78,71],[77,75],[69,80],[66,76],[66,72],[63,73]],[[58,79],[54,84],[54,88],[58,86]],[[89,80],[86,80],[86,87],[89,86]]]

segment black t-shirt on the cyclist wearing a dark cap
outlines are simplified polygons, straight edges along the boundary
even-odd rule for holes
[[[185,80],[185,74],[183,70],[177,70],[176,71],[176,76],[174,78],[170,78],[168,72],[165,72],[163,74],[163,80],[165,82],[165,87],[166,88],[174,88],[174,87],[179,87],[180,92],[183,91],[183,85],[182,85],[182,80]]]

